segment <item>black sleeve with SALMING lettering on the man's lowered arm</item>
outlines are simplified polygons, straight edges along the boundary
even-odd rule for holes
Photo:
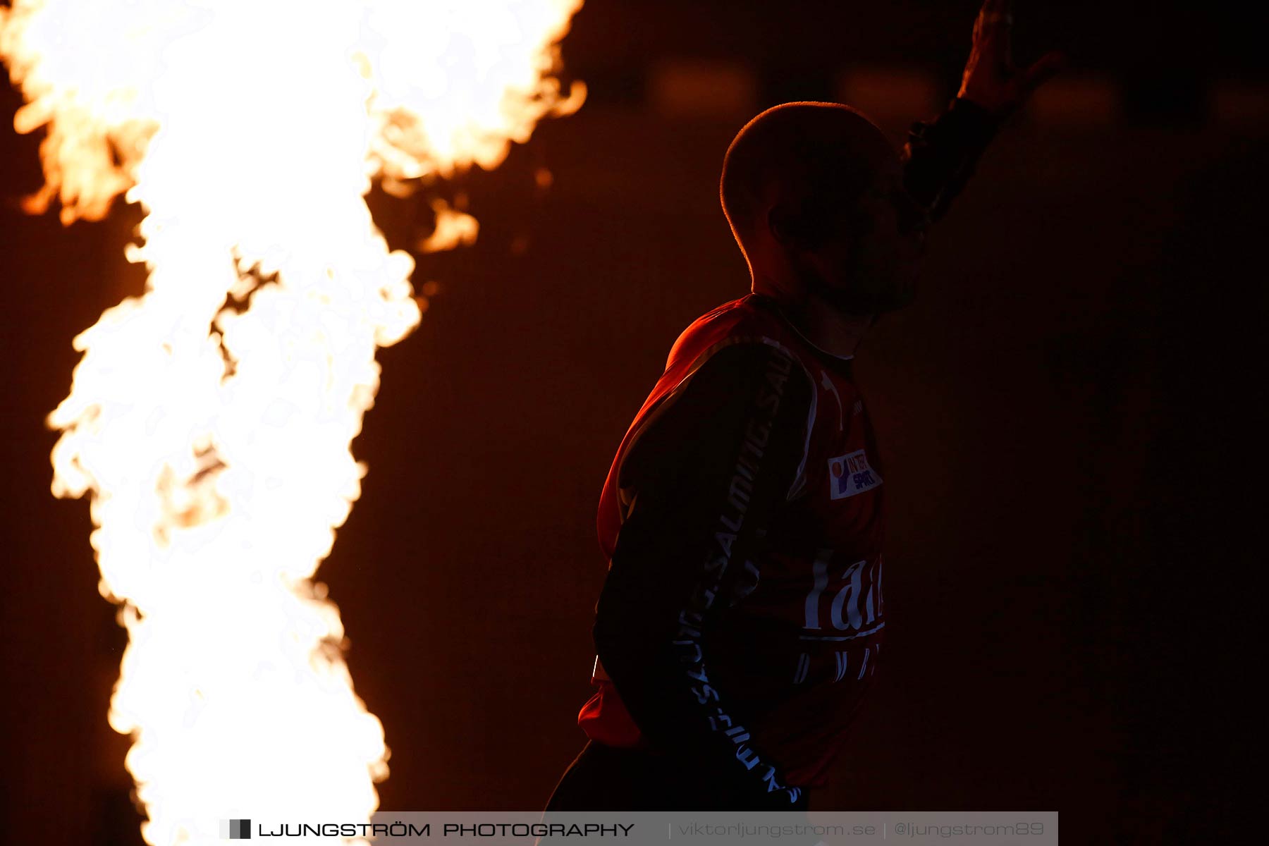
[[[709,354],[631,445],[629,504],[596,605],[599,660],[638,728],[737,808],[789,808],[803,793],[709,675],[708,633],[756,583],[772,511],[799,472],[810,402],[806,373],[779,346]]]

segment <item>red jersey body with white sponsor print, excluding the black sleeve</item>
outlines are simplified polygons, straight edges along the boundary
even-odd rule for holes
[[[717,501],[702,504],[702,514],[718,515],[722,531],[714,535],[732,535],[723,543],[706,537],[707,548],[699,553],[708,557],[709,545],[720,552],[730,547],[732,553],[726,563],[731,569],[726,606],[716,602],[698,627],[702,665],[718,700],[727,701],[727,715],[742,719],[751,736],[735,745],[736,753],[760,750],[758,755],[783,774],[787,785],[815,786],[822,784],[877,670],[886,627],[883,476],[850,359],[810,344],[773,301],[755,294],[697,320],[675,342],[665,373],[613,460],[599,506],[600,545],[610,559],[618,552],[632,505],[637,509],[643,492],[641,481],[656,478],[641,473],[637,464],[661,459],[667,438],[697,440],[688,462],[714,441],[726,444],[725,454],[735,450],[725,434],[728,420],[692,420],[685,426],[662,422],[689,400],[714,410],[716,397],[732,389],[733,382],[717,377],[697,384],[712,361],[722,361],[720,355],[731,359],[726,369],[732,373],[745,368],[754,373],[753,383],[760,386],[754,405],[764,402],[765,387],[769,397],[779,393],[784,407],[777,420],[750,426],[755,438],[742,439],[740,448],[741,458],[749,444],[751,458],[778,458],[778,465],[765,474],[751,467],[746,486],[737,485],[746,481],[740,460],[731,483],[712,488]],[[654,435],[659,426],[670,434]],[[732,469],[726,460],[713,467]],[[742,534],[753,542],[744,549]],[[690,567],[690,553],[683,563]],[[596,657],[593,682],[598,691],[581,709],[579,723],[596,742],[645,745],[618,693],[622,677],[604,663]],[[703,704],[704,709],[713,701]],[[721,728],[726,732],[732,726]]]

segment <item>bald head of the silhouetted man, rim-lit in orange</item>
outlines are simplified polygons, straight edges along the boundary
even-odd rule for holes
[[[736,134],[723,160],[723,213],[746,256],[769,212],[791,233],[816,241],[896,160],[886,136],[836,103],[786,103]]]

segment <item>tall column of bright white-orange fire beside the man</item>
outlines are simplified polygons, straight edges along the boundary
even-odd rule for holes
[[[110,724],[147,842],[250,812],[367,821],[387,775],[312,581],[358,498],[379,346],[419,322],[411,257],[364,203],[490,169],[575,110],[556,42],[581,0],[16,0],[0,56],[44,129],[63,222],[123,194],[146,292],[75,339],[53,493],[91,497],[129,643]],[[475,238],[434,204],[426,249]]]

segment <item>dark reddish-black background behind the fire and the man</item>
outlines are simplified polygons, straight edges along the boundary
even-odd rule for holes
[[[813,807],[1058,809],[1071,842],[1213,841],[1251,756],[1264,561],[1259,28],[1213,4],[1018,5],[1019,57],[1066,49],[1067,88],[999,137],[917,304],[858,355],[890,468],[892,652]],[[584,741],[612,453],[678,332],[747,287],[717,204],[727,142],[850,71],[881,68],[883,107],[886,79],[931,82],[937,109],[975,10],[590,0],[563,49],[588,105],[445,186],[480,240],[420,260],[440,292],[381,354],[354,444],[371,473],[320,569],[392,748],[381,807],[544,803]],[[876,115],[896,141],[930,117],[904,101]],[[0,133],[0,840],[136,843],[105,723],[126,641],[88,505],[48,493],[43,417],[71,337],[141,289],[137,212],[23,216],[37,142]],[[395,246],[428,231],[423,197],[372,207]]]

